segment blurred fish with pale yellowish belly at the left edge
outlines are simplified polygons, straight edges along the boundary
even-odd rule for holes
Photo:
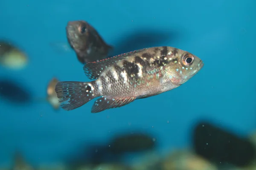
[[[20,70],[27,66],[28,57],[11,42],[0,40],[0,64],[12,70]]]

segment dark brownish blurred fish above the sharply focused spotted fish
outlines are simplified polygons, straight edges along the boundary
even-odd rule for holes
[[[69,21],[66,26],[67,40],[82,64],[105,59],[113,49],[93,26],[83,20]]]

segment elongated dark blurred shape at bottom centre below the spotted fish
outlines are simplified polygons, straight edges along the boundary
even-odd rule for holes
[[[122,158],[126,153],[142,153],[154,150],[156,145],[156,139],[147,133],[116,134],[108,143],[97,144],[97,142],[94,142],[85,148],[80,147],[78,149],[80,153],[76,154],[68,162],[74,167],[80,167],[83,164],[116,164],[122,162]]]

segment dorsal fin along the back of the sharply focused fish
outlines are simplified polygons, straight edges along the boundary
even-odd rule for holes
[[[121,61],[122,59],[130,57],[131,55],[134,55],[138,52],[144,51],[146,49],[147,48],[131,51],[131,52],[120,54],[107,59],[102,59],[96,62],[87,62],[84,65],[84,73],[89,79],[97,79],[99,75],[102,73],[102,71],[104,71],[109,66],[115,64],[116,62]]]

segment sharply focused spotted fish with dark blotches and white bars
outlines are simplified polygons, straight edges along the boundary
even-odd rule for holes
[[[179,87],[203,68],[197,56],[178,48],[143,48],[84,65],[90,82],[57,82],[61,108],[70,111],[97,99],[91,113],[119,108]]]

